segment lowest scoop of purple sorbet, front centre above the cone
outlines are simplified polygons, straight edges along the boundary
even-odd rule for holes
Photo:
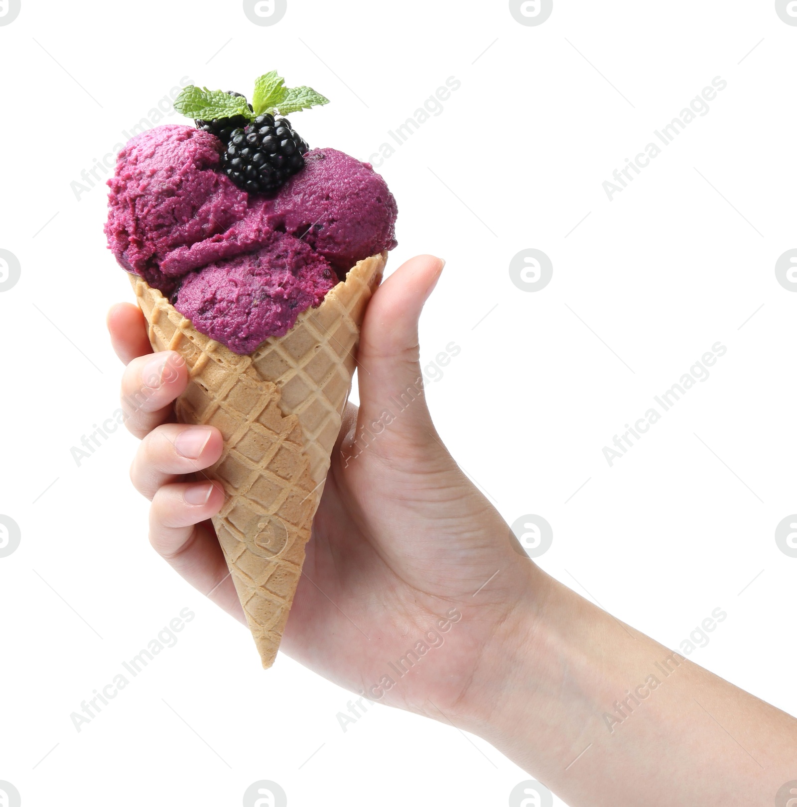
[[[277,232],[256,253],[188,274],[174,304],[196,330],[234,353],[251,353],[268,337],[285,336],[337,282],[310,246]]]

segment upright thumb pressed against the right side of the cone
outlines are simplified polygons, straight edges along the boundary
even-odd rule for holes
[[[357,353],[358,429],[389,429],[428,441],[433,429],[420,372],[418,320],[445,261],[413,257],[379,286],[365,312]]]

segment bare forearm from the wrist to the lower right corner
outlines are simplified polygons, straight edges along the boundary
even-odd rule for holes
[[[797,721],[536,569],[470,730],[572,807],[772,807]]]

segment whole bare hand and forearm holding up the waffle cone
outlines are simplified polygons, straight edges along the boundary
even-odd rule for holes
[[[417,332],[440,271],[436,258],[413,258],[369,304],[361,408],[344,415],[281,649],[370,700],[480,734],[574,807],[770,804],[792,775],[797,721],[545,575],[442,445]],[[152,500],[150,541],[245,622],[209,521],[224,493],[201,473],[221,434],[175,423],[186,368],[176,353],[151,355],[137,307],[114,307],[108,325],[128,364],[126,422],[143,438],[131,477]],[[653,694],[636,688],[644,717],[607,731],[609,705],[662,659],[677,674]],[[753,763],[733,758],[721,780],[703,776],[733,751],[728,737],[744,738]]]

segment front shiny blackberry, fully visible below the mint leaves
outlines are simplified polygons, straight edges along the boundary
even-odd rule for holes
[[[301,171],[309,151],[287,118],[259,115],[249,126],[230,132],[221,167],[239,188],[264,194]]]

